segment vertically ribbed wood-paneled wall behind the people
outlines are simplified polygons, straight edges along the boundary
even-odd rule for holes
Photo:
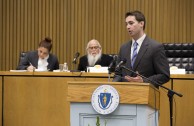
[[[104,53],[118,53],[130,39],[124,15],[140,10],[146,33],[160,42],[194,42],[193,0],[0,0],[0,70],[15,69],[19,53],[53,39],[52,53],[71,68],[75,52],[85,54],[90,39]]]

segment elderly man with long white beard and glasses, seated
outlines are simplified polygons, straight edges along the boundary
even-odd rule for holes
[[[109,66],[113,60],[111,56],[102,54],[102,47],[95,39],[88,42],[86,52],[87,55],[82,56],[79,60],[78,70],[80,71],[86,71],[87,67],[95,65]]]

